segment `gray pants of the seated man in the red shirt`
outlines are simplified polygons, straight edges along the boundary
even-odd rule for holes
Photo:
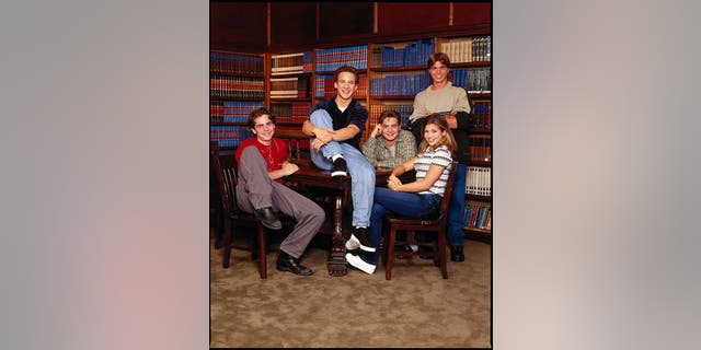
[[[237,201],[239,208],[246,212],[272,207],[277,212],[295,218],[297,224],[280,244],[280,249],[296,258],[304,253],[324,221],[321,207],[291,188],[271,179],[265,160],[253,145],[241,152]]]

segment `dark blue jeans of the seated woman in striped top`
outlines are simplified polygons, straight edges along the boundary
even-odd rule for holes
[[[375,247],[380,246],[382,237],[382,218],[387,213],[397,213],[403,217],[422,218],[430,214],[440,205],[441,197],[438,195],[418,195],[411,192],[397,192],[384,187],[375,188],[375,202],[372,203],[372,214],[370,215],[370,240]],[[375,260],[368,261],[377,264],[379,250],[375,250]]]

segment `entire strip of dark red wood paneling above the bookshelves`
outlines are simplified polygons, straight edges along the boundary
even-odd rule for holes
[[[267,5],[271,43],[267,43]],[[300,51],[319,46],[415,38],[417,35],[489,33],[491,2],[209,2],[209,45],[244,52]],[[319,9],[319,13],[317,13]],[[317,22],[319,21],[319,23]],[[319,36],[317,36],[319,25]]]

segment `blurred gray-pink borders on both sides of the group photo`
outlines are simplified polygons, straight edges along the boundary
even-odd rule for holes
[[[495,349],[698,347],[699,10],[494,3]],[[208,15],[0,4],[3,349],[208,347]]]

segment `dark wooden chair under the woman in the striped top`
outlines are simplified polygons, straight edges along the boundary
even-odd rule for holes
[[[446,258],[446,229],[448,228],[448,205],[450,203],[450,192],[452,191],[452,184],[455,183],[456,168],[458,162],[452,162],[452,167],[448,173],[448,180],[446,183],[446,191],[444,192],[438,211],[428,218],[407,218],[395,214],[388,214],[384,221],[389,224],[388,240],[386,240],[387,247],[384,264],[387,269],[384,272],[384,279],[390,280],[392,278],[392,260],[397,256],[413,257],[413,256],[433,256],[434,264],[440,267],[443,278],[448,278],[448,266]],[[435,232],[436,240],[432,243],[422,243],[418,245],[432,246],[433,252],[418,253],[418,252],[400,252],[394,249],[395,244],[406,244],[406,242],[397,241],[398,231],[421,231],[421,232]]]

